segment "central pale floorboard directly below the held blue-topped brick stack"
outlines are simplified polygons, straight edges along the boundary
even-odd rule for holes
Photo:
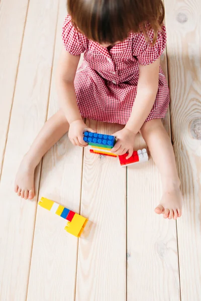
[[[87,124],[114,133],[116,124]],[[79,240],[76,301],[126,300],[126,170],[117,158],[84,150],[81,214],[91,221]]]

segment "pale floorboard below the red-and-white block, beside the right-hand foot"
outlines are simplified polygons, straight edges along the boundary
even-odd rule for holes
[[[161,66],[167,78],[166,51]],[[169,110],[163,124],[170,134]],[[136,149],[146,147],[138,135]],[[162,195],[160,175],[151,159],[127,170],[128,301],[180,300],[176,224],[154,213]]]

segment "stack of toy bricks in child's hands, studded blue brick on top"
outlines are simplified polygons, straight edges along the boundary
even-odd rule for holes
[[[115,145],[115,136],[84,132],[84,141],[88,143],[90,153],[117,157],[111,153],[111,148]]]

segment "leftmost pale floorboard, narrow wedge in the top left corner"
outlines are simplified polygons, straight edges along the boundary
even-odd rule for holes
[[[0,178],[28,3],[29,0],[0,3]]]

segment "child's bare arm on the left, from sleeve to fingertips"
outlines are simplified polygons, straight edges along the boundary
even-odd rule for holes
[[[56,85],[60,107],[69,123],[68,137],[73,145],[86,146],[87,143],[83,140],[83,131],[95,131],[88,128],[83,122],[77,106],[74,78],[79,59],[80,55],[74,56],[64,48],[62,49],[57,68]]]

